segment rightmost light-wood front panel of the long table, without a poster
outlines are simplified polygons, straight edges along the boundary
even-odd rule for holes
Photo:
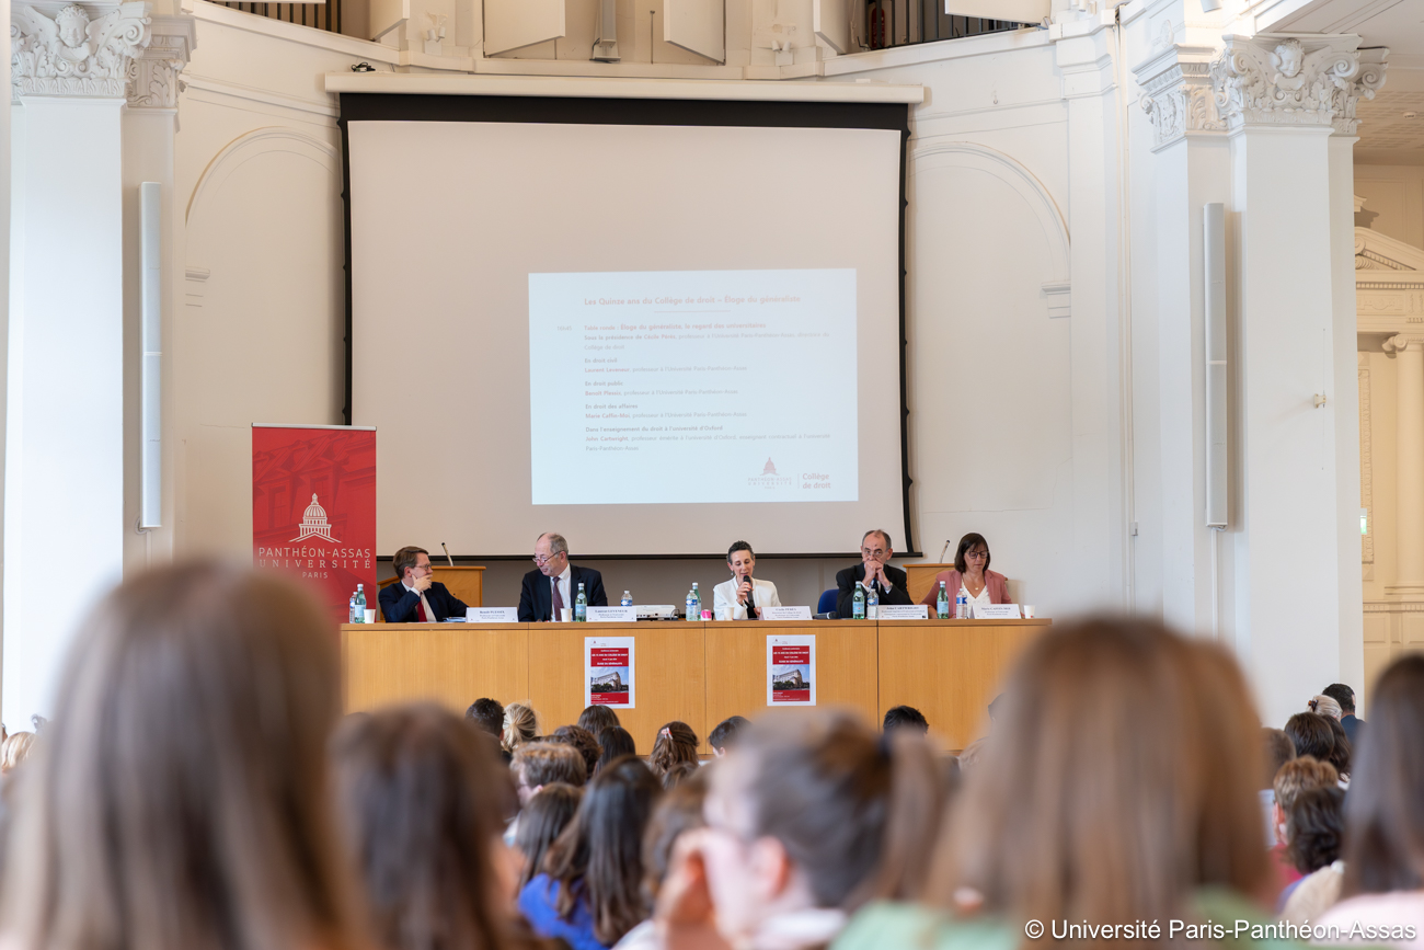
[[[880,705],[910,705],[946,749],[988,731],[988,704],[1049,620],[880,621]]]

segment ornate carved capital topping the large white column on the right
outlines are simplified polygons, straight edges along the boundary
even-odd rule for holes
[[[1354,134],[1354,107],[1384,85],[1386,64],[1363,61],[1354,36],[1227,37],[1212,64],[1216,108],[1229,128],[1330,125]]]

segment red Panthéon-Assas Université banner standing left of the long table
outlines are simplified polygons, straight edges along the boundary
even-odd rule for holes
[[[376,608],[376,430],[252,426],[252,563],[289,573],[345,624]]]

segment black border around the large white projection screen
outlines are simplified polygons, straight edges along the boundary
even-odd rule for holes
[[[796,100],[703,100],[703,98],[600,98],[558,95],[459,95],[407,93],[339,93],[342,134],[342,215],[346,239],[345,286],[345,406],[342,417],[352,424],[353,404],[353,301],[352,301],[352,201],[350,140],[347,122],[554,122],[575,125],[701,125],[743,128],[871,128],[900,134],[899,198],[899,345],[900,345],[900,483],[906,550],[899,557],[924,557],[916,550],[910,514],[910,407],[906,379],[906,179],[909,171],[910,105],[904,103],[796,101]],[[775,554],[762,557],[826,558],[856,557],[859,551],[819,554]],[[456,554],[459,560],[514,560],[524,555]],[[585,560],[642,560],[645,557],[701,558],[708,554],[584,555]]]

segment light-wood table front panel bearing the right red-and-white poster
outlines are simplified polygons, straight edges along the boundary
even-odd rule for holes
[[[843,621],[733,621],[706,625],[708,731],[731,715],[756,718],[766,711],[766,638],[816,637],[816,705],[850,706],[879,722],[876,692],[876,622]],[[702,751],[712,746],[702,738]]]

